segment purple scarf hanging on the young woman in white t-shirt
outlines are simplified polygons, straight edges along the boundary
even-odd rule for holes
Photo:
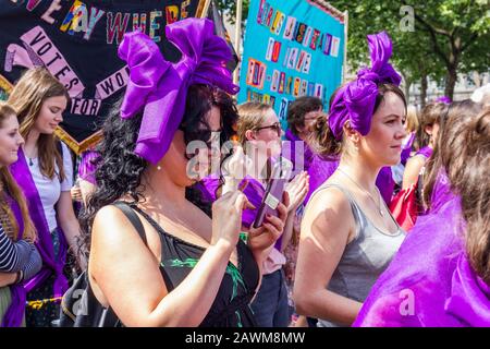
[[[61,231],[61,227],[58,226],[60,250],[57,261],[52,245],[51,232],[49,231],[48,221],[45,217],[42,203],[22,148],[19,148],[19,159],[15,164],[11,165],[10,171],[19,183],[19,186],[23,190],[27,200],[29,215],[37,230],[36,248],[42,258],[42,268],[38,274],[36,274],[36,276],[24,284],[24,288],[26,292],[29,292],[40,286],[51,274],[54,273],[56,279],[53,284],[53,293],[54,297],[61,297],[68,289],[68,280],[63,275],[68,248],[64,233]]]

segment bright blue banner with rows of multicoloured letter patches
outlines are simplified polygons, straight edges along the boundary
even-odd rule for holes
[[[252,0],[238,103],[271,105],[285,127],[287,105],[317,96],[324,108],[342,82],[344,19],[309,0]]]

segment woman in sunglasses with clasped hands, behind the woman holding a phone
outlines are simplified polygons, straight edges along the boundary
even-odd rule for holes
[[[258,209],[267,182],[271,176],[274,159],[281,154],[281,124],[274,110],[265,104],[246,103],[238,106],[237,136],[238,143],[249,159],[245,180],[247,186],[244,194]],[[284,159],[285,161],[285,159]],[[308,192],[308,176],[297,174],[286,185],[287,197],[284,203],[286,214],[281,217],[284,228],[281,240],[270,250],[262,265],[262,282],[252,303],[257,324],[264,327],[286,327],[290,324],[290,309],[282,266],[286,260],[283,255],[292,232],[296,208],[303,203]],[[252,226],[257,209],[245,209],[243,214],[243,230],[254,232]],[[272,217],[274,218],[274,217]]]

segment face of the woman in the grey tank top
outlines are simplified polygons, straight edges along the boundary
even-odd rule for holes
[[[402,143],[406,135],[405,104],[392,92],[384,95],[372,116],[369,133],[362,137],[362,152],[377,166],[394,166],[400,163]]]

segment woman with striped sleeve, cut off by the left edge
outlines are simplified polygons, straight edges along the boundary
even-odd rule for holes
[[[36,233],[25,197],[8,166],[17,160],[24,143],[12,107],[0,101],[0,322],[1,327],[25,325],[23,282],[41,267],[34,246]]]

